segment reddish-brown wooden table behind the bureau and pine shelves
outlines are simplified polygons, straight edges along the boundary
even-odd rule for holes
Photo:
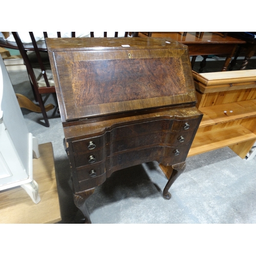
[[[150,33],[150,34],[148,34]],[[184,34],[185,33],[185,34]],[[245,44],[242,39],[234,38],[226,32],[138,32],[139,37],[169,37],[188,46],[189,56],[193,56],[191,66],[194,67],[196,56],[204,56],[201,70],[206,65],[208,55],[226,55],[226,60],[220,71],[227,71],[229,62],[236,52],[237,46]],[[202,34],[203,33],[203,34]],[[200,36],[201,35],[201,36]]]

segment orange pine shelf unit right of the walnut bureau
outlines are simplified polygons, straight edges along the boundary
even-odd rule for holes
[[[256,141],[256,70],[193,75],[204,116],[188,156],[229,146],[245,158]]]

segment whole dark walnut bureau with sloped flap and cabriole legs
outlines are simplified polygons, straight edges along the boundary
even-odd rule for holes
[[[157,161],[185,168],[202,113],[187,47],[169,38],[47,38],[74,201],[86,208],[94,188],[119,169]]]

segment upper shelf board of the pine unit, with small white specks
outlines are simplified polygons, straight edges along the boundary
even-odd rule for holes
[[[256,116],[256,100],[244,100],[200,109],[204,114],[200,127]]]

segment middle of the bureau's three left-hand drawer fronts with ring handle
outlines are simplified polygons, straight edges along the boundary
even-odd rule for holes
[[[74,158],[76,167],[94,164],[105,158],[105,148],[98,151],[87,152],[85,154],[75,154]]]

